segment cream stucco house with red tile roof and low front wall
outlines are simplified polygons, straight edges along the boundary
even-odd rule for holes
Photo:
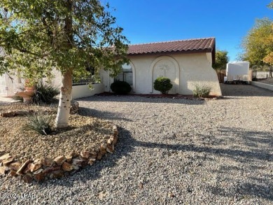
[[[123,73],[116,78],[109,76],[109,71],[101,69],[101,83],[92,85],[89,90],[85,80],[81,85],[75,83],[72,90],[73,99],[87,97],[100,92],[111,92],[110,85],[115,80],[124,80],[132,86],[135,94],[159,94],[153,89],[153,82],[159,76],[172,80],[172,90],[169,94],[193,94],[196,84],[209,85],[211,94],[221,96],[216,71],[212,68],[215,60],[215,38],[198,38],[160,43],[145,43],[129,45],[127,57],[130,64],[123,66]],[[52,83],[60,86],[62,79],[59,71],[54,71]],[[0,95],[12,96],[22,87],[24,80],[13,76],[13,81],[7,74],[0,76]]]

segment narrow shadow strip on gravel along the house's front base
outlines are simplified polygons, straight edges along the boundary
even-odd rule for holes
[[[77,101],[114,101],[114,102],[141,102],[141,103],[165,103],[165,104],[186,104],[186,105],[202,105],[204,100],[199,99],[169,99],[169,98],[148,98],[139,96],[91,96],[77,99]]]

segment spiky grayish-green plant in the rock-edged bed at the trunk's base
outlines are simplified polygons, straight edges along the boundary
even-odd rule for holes
[[[48,135],[52,133],[52,120],[53,115],[45,113],[43,111],[38,111],[36,113],[31,113],[27,115],[27,122],[25,129],[33,130],[38,132],[38,134]]]

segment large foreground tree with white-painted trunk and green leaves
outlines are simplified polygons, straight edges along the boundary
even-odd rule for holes
[[[19,70],[36,83],[62,72],[57,127],[68,125],[72,76],[85,68],[120,72],[127,62],[127,39],[116,27],[116,18],[99,0],[1,0],[0,74]]]

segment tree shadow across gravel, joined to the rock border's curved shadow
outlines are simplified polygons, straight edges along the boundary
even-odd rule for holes
[[[224,165],[219,164],[217,166],[220,167],[220,169],[213,169],[213,171],[219,176],[219,178],[225,176],[226,183],[233,184],[233,188],[227,189],[219,185],[204,182],[201,185],[202,189],[206,190],[207,192],[211,192],[213,195],[221,197],[236,197],[237,199],[243,199],[244,197],[251,196],[273,201],[273,192],[270,191],[273,185],[272,181],[267,181],[265,184],[259,183],[259,181],[264,180],[264,175],[261,174],[260,176],[256,176],[256,178],[253,178],[253,176],[245,176],[247,181],[232,178],[232,171],[235,171],[234,173],[238,171],[244,172],[245,169],[256,170],[259,167],[262,171],[261,167],[263,164],[272,162],[272,150],[265,148],[265,146],[272,146],[272,133],[244,131],[230,127],[221,127],[219,128],[219,131],[221,133],[219,136],[211,136],[211,139],[215,138],[219,140],[213,141],[213,143],[209,145],[204,143],[202,144],[207,137],[202,134],[200,134],[197,138],[199,140],[196,142],[193,141],[193,143],[189,143],[189,141],[186,139],[181,139],[179,143],[169,144],[168,141],[166,143],[139,141],[132,137],[129,130],[119,128],[119,139],[113,155],[107,154],[101,161],[96,162],[92,167],[86,167],[85,169],[79,171],[77,173],[78,176],[69,176],[68,178],[63,178],[61,180],[47,181],[39,184],[39,186],[42,188],[48,188],[52,185],[69,187],[79,182],[85,183],[85,181],[95,181],[97,178],[102,177],[103,170],[120,166],[117,164],[117,162],[121,158],[128,157],[128,160],[134,160],[132,157],[130,157],[130,153],[134,152],[136,148],[141,147],[151,150],[155,150],[155,148],[157,148],[157,150],[162,153],[166,152],[167,150],[167,154],[171,153],[172,151],[183,151],[185,153],[193,152],[196,154],[204,153],[207,157],[204,157],[203,160],[207,160],[208,162],[211,162],[211,159],[214,160],[215,156],[218,157],[218,159],[225,159],[228,157],[230,160],[232,160],[232,163],[228,164],[227,162],[227,164],[223,163]],[[234,136],[233,139],[232,136]],[[228,143],[234,139],[238,139],[238,147],[236,149],[229,148]],[[221,147],[223,144],[225,146]],[[251,162],[254,161],[258,165],[251,164]],[[235,162],[238,162],[242,166],[237,167]],[[218,163],[218,161],[216,160],[215,163]],[[184,166],[190,166],[190,164],[184,164]],[[203,168],[201,167],[200,170],[202,171],[202,169]],[[272,176],[267,176],[267,178],[272,178]],[[80,192],[80,190],[75,190],[73,192]]]

